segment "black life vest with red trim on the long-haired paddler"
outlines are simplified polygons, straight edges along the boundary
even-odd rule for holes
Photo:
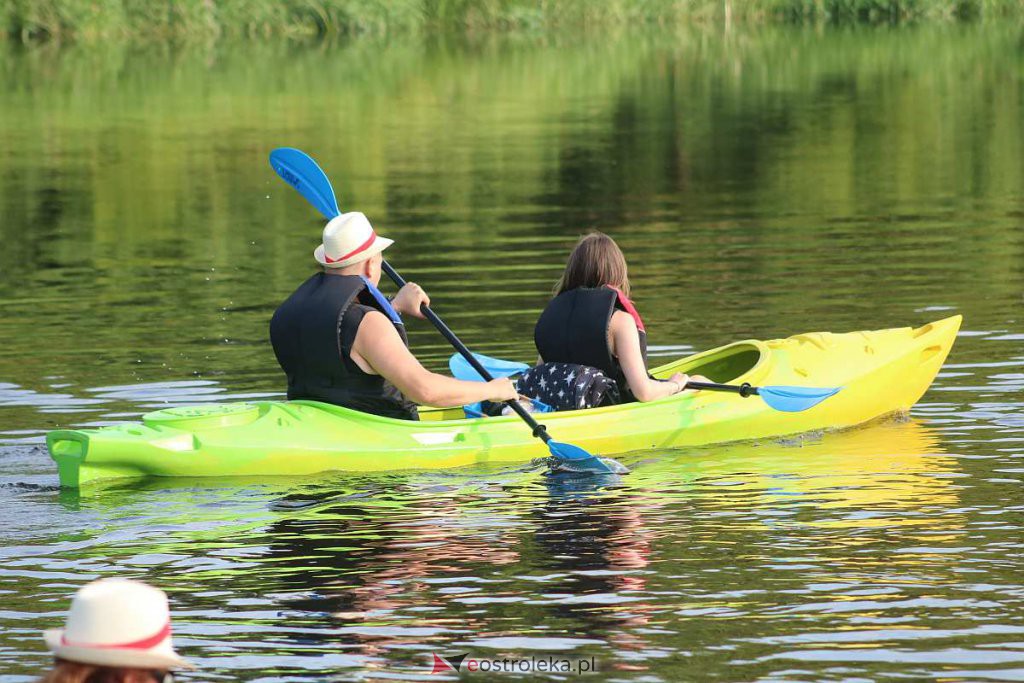
[[[640,352],[647,366],[647,333],[633,303],[613,287],[579,287],[548,303],[534,328],[534,343],[545,362],[573,362],[597,368],[618,384],[623,402],[636,400],[618,359],[608,344],[608,327],[615,310],[636,321]]]

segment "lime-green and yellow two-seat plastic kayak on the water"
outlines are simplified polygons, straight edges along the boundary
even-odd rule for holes
[[[658,378],[682,372],[731,384],[842,387],[802,413],[779,413],[753,396],[696,391],[551,413],[543,422],[559,440],[600,455],[850,427],[909,410],[942,367],[961,319],[746,340],[651,371]],[[424,409],[421,421],[411,422],[306,400],[171,408],[141,423],[52,431],[46,445],[67,487],[113,477],[422,470],[548,455],[515,416],[466,419],[461,409]]]

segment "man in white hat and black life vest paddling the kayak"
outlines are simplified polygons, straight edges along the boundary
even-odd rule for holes
[[[270,342],[288,376],[290,400],[319,400],[403,420],[416,405],[449,408],[517,397],[507,378],[463,382],[428,372],[409,350],[401,315],[424,317],[430,298],[414,283],[388,301],[377,285],[379,237],[358,212],[337,216],[313,252],[322,270],[274,311]]]

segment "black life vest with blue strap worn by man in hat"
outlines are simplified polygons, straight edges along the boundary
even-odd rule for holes
[[[365,373],[350,355],[362,316],[383,312],[409,346],[401,318],[358,275],[318,272],[270,318],[270,343],[288,376],[289,400],[319,400],[364,413],[418,420],[416,404],[380,375]]]

